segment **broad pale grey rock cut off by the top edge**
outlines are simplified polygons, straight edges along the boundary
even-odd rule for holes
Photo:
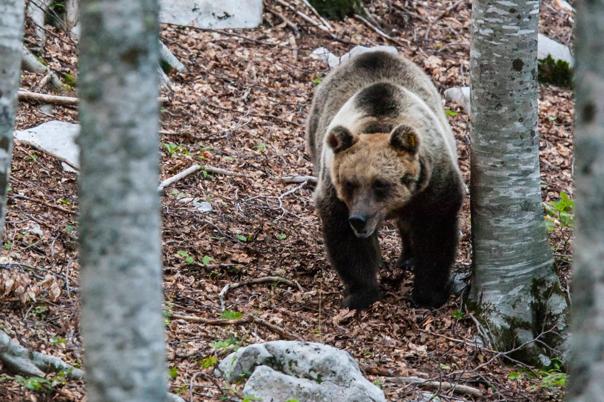
[[[159,20],[199,28],[255,28],[262,0],[160,0]]]

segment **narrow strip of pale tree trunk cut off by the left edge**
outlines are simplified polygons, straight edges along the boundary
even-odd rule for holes
[[[0,239],[4,231],[14,114],[21,81],[24,11],[23,0],[0,0]]]

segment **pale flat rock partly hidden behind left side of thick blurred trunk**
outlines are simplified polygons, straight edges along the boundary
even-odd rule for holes
[[[76,137],[80,133],[79,124],[65,123],[57,120],[40,124],[28,130],[14,132],[16,139],[27,141],[42,148],[51,154],[69,161],[74,166],[79,165],[80,150],[76,144]],[[77,172],[76,169],[63,163],[63,169],[68,172]]]

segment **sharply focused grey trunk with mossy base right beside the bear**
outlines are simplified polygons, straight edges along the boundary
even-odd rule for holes
[[[544,344],[564,351],[567,333],[541,199],[538,19],[539,1],[472,2],[468,305],[495,347],[529,342],[518,357],[534,363],[558,354]]]

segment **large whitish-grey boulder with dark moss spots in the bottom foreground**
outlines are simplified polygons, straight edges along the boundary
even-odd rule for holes
[[[231,383],[252,372],[243,395],[263,402],[385,402],[384,392],[363,377],[347,351],[313,342],[249,345],[226,356],[220,372]]]

